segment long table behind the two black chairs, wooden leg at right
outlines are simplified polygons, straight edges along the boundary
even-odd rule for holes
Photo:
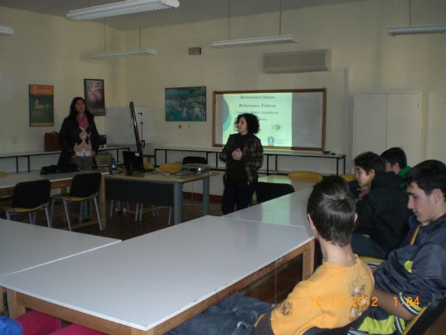
[[[7,174],[6,177],[0,177],[0,194],[1,195],[12,195],[14,187],[16,184],[22,181],[34,181],[40,179],[49,179],[51,182],[51,188],[61,188],[61,192],[65,193],[66,188],[71,185],[72,177],[75,177],[79,173],[90,173],[90,172],[100,172],[102,174],[102,180],[100,183],[99,190],[99,208],[100,216],[102,221],[102,227],[107,228],[107,222],[105,215],[105,193],[104,193],[104,174],[108,174],[108,170],[104,168],[99,168],[98,170],[81,170],[77,172],[67,172],[67,173],[54,173],[54,174],[40,174],[38,171],[32,172],[20,172]]]

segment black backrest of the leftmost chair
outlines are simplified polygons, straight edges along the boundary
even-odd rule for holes
[[[13,193],[13,207],[36,208],[49,202],[51,183],[48,179],[24,181],[15,185]]]

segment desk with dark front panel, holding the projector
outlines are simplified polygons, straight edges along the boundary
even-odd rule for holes
[[[181,223],[183,184],[203,181],[203,215],[207,215],[209,177],[217,175],[215,171],[185,175],[160,172],[108,175],[105,177],[105,198],[174,207],[174,224],[177,225]]]

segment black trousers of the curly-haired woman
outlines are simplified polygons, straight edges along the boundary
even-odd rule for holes
[[[222,212],[229,214],[234,211],[237,204],[237,210],[244,209],[252,202],[252,195],[256,191],[257,182],[249,183],[247,179],[226,179],[224,185]]]

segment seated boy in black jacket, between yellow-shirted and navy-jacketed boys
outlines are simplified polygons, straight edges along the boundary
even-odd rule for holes
[[[383,158],[367,151],[355,158],[358,184],[370,191],[356,202],[357,229],[351,245],[358,255],[387,258],[406,237],[410,216],[401,177],[385,172]]]

